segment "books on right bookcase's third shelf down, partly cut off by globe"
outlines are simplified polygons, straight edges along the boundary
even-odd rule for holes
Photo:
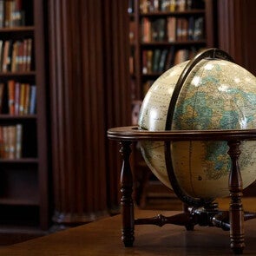
[[[197,49],[145,49],[142,51],[142,74],[161,73],[173,65],[185,62],[195,55]]]

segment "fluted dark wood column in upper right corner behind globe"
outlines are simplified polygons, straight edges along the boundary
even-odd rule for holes
[[[219,48],[256,74],[256,16],[254,0],[218,1]]]

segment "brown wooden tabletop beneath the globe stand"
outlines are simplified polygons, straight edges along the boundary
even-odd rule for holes
[[[178,212],[135,211],[135,218],[166,216]],[[246,221],[245,255],[256,255],[256,220]],[[4,256],[38,255],[233,255],[229,248],[229,232],[217,227],[135,226],[134,247],[121,243],[121,216],[109,217],[48,236],[0,248]]]

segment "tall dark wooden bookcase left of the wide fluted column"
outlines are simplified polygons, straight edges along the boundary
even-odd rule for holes
[[[15,1],[5,0],[0,16],[3,23],[0,28],[0,40],[9,41],[14,45],[16,42],[24,42],[30,38],[32,42],[31,54],[26,56],[26,46],[17,51],[15,57],[14,47],[9,50],[10,65],[13,62],[16,68],[1,69],[0,82],[3,87],[3,108],[0,115],[0,127],[22,127],[21,142],[16,138],[10,139],[14,134],[1,134],[2,155],[0,158],[0,233],[2,227],[5,229],[16,226],[35,227],[39,230],[49,228],[49,189],[48,189],[48,156],[47,156],[47,122],[45,103],[45,61],[44,61],[44,27],[43,27],[43,0],[16,1],[22,3],[22,12],[14,4]],[[0,3],[0,4],[2,4]],[[7,5],[10,4],[8,7]],[[16,9],[15,9],[16,8]],[[0,6],[1,10],[1,6]],[[13,12],[11,12],[11,10]],[[8,12],[16,16],[23,16],[21,23],[5,22]],[[1,23],[1,22],[0,22]],[[8,25],[9,24],[9,25]],[[14,56],[13,56],[14,54]],[[23,57],[21,57],[23,56]],[[29,64],[26,64],[26,62]],[[18,65],[21,66],[18,66]],[[24,66],[23,66],[24,65]],[[3,67],[1,67],[3,68]],[[15,84],[15,101],[18,104],[19,112],[14,115],[10,111],[11,93],[8,89],[10,81]],[[33,104],[30,91],[31,85],[36,85],[36,110],[21,112],[23,108],[22,84],[29,84],[28,103]],[[20,93],[18,93],[20,88]],[[18,96],[19,95],[19,96]],[[19,101],[16,99],[19,98]],[[7,139],[6,137],[7,136]],[[8,139],[9,138],[9,139]],[[7,140],[7,142],[6,142]],[[9,141],[8,141],[9,140]],[[17,144],[17,145],[16,145]],[[10,147],[14,152],[20,145],[21,154],[11,155],[8,153]]]

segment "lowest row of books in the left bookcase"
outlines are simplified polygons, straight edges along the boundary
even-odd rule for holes
[[[22,157],[23,125],[0,126],[0,158],[20,159]]]

